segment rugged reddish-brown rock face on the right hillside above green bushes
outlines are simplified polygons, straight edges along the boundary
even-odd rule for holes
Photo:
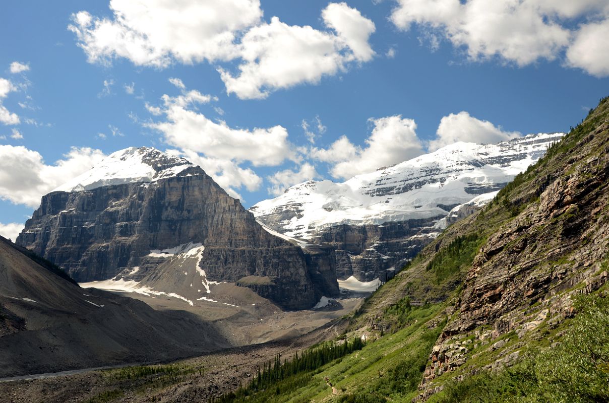
[[[552,343],[575,298],[609,279],[609,101],[498,199],[467,220],[470,231],[491,230],[432,351],[422,397],[473,357],[494,370],[526,346]]]

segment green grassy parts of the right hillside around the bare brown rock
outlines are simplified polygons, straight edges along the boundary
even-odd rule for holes
[[[459,312],[454,306],[459,304],[463,283],[471,270],[474,256],[501,228],[512,224],[532,203],[538,203],[541,192],[552,181],[569,174],[565,170],[573,168],[568,164],[577,161],[569,161],[566,154],[580,147],[582,139],[606,122],[608,115],[609,102],[605,99],[586,121],[574,128],[563,141],[551,147],[539,163],[518,175],[505,187],[491,205],[450,226],[402,272],[370,296],[355,314],[345,318],[350,321],[348,336],[365,334],[371,340],[362,351],[277,385],[275,390],[250,396],[245,401],[371,403],[410,402],[416,398],[423,371],[426,364],[429,364],[432,346],[437,342],[446,321],[459,318]],[[602,152],[607,153],[607,150],[599,149],[599,153]],[[565,214],[576,216],[577,212]],[[566,222],[571,218],[562,216],[561,220]],[[540,248],[538,253],[544,251]],[[542,269],[554,270],[561,264],[571,264],[570,258],[569,254],[565,254],[558,261],[545,262]],[[582,284],[577,284],[576,287],[582,288]],[[569,292],[569,289],[561,292]],[[502,334],[492,343],[479,342],[471,334],[459,336],[459,341],[468,346],[468,360],[465,365],[434,379],[434,385],[444,387],[444,390],[432,396],[430,401],[587,402],[595,401],[590,400],[590,396],[582,398],[587,393],[586,389],[594,385],[601,390],[591,395],[593,399],[605,401],[602,399],[607,394],[603,394],[602,388],[607,385],[607,382],[603,384],[605,380],[609,382],[609,326],[605,324],[609,324],[609,303],[604,288],[594,295],[596,303],[591,303],[592,300],[580,303],[582,315],[560,323],[543,321],[524,338],[520,338],[514,331]],[[586,304],[596,310],[586,310]],[[534,317],[541,309],[541,304],[527,303],[523,309],[527,315]],[[484,332],[490,328],[490,324],[479,326],[476,331]],[[586,331],[595,334],[587,338],[578,336]],[[544,350],[557,341],[565,343]],[[586,351],[588,356],[582,356],[582,351],[577,350],[577,346],[582,343],[597,343],[600,350]],[[523,348],[524,345],[528,348]],[[513,348],[523,349],[523,354],[512,370],[493,374],[481,371],[499,357],[513,351]],[[586,363],[590,354],[598,357],[599,363],[592,366]],[[577,365],[571,365],[572,363]],[[569,370],[561,373],[555,371],[556,367]],[[469,376],[472,373],[478,374]],[[592,375],[582,376],[584,373]],[[463,378],[464,375],[468,377]],[[334,391],[326,383],[326,377]],[[456,377],[466,381],[455,382]],[[560,382],[557,379],[570,379],[572,384],[583,384],[583,388],[580,387],[583,392],[569,394],[569,390],[577,388],[558,387]]]

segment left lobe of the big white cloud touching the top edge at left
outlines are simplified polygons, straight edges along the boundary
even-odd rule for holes
[[[166,67],[234,57],[236,34],[259,22],[259,0],[111,0],[112,18],[81,11],[69,29],[91,62],[124,57]]]

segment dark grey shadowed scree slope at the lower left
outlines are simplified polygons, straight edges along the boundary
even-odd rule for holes
[[[226,346],[212,323],[81,289],[0,237],[0,377],[177,359]]]

